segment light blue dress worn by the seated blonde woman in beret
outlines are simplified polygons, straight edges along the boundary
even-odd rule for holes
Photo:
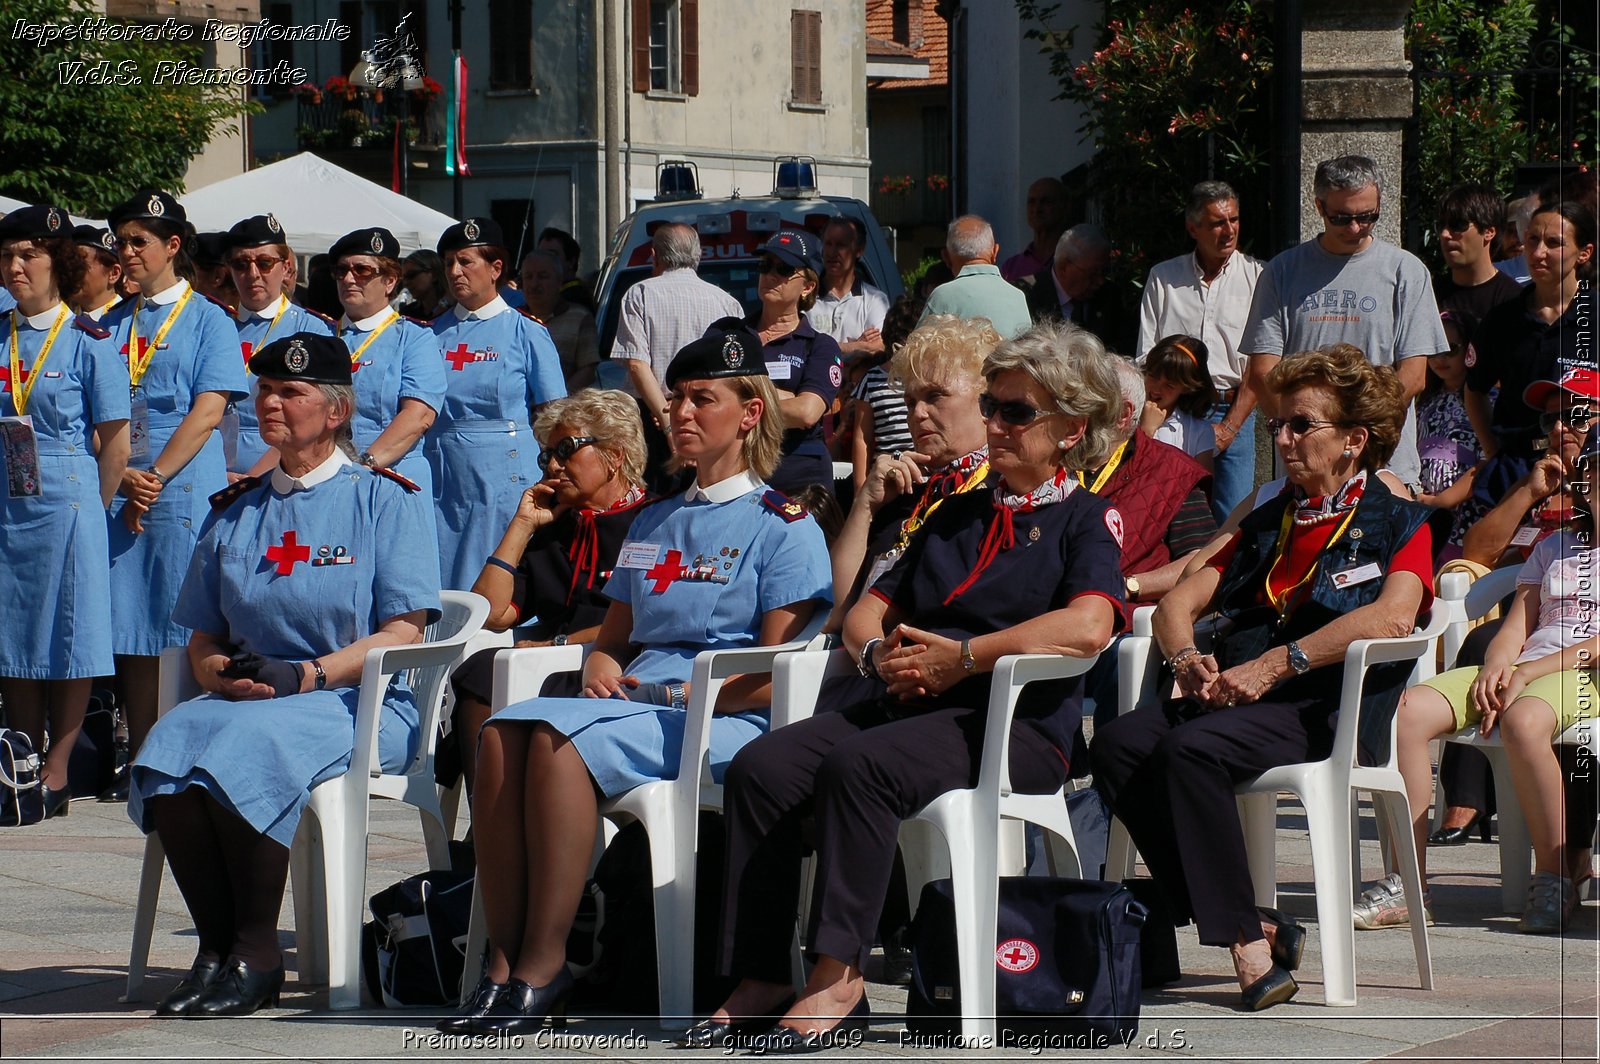
[[[690,678],[702,650],[755,646],[762,614],[798,602],[834,600],[827,544],[808,515],[782,510],[766,485],[731,502],[674,496],[634,518],[605,594],[634,608],[635,645],[622,670],[645,683]],[[683,710],[594,698],[536,698],[490,723],[547,722],[571,738],[600,790],[613,798],[677,773]],[[710,771],[722,779],[746,742],[766,731],[766,712],[718,714]]]

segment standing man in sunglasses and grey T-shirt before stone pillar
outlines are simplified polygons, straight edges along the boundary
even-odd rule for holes
[[[1374,235],[1382,179],[1371,158],[1342,155],[1318,163],[1312,189],[1323,230],[1261,272],[1240,342],[1250,355],[1242,389],[1272,416],[1278,413],[1277,398],[1266,379],[1283,355],[1352,344],[1373,365],[1394,366],[1408,405],[1390,469],[1414,485],[1422,466],[1410,400],[1427,382],[1427,357],[1450,349],[1427,267]],[[1250,410],[1238,402],[1235,408]],[[1224,429],[1238,426],[1224,421]]]

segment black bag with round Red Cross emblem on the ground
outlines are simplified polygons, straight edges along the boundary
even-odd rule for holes
[[[1101,1050],[1139,1030],[1139,928],[1146,907],[1122,883],[1002,877],[994,954],[998,1046]],[[912,920],[906,1027],[960,1037],[950,880],[922,891]]]

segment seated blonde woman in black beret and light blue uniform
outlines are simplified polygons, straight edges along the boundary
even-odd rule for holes
[[[442,1030],[509,1034],[560,1014],[597,800],[675,774],[694,654],[787,642],[832,600],[822,530],[763,483],[782,414],[762,342],[723,318],[678,352],[667,387],[672,443],[698,478],[634,520],[584,662],[586,698],[507,706],[482,731],[472,819],[490,962]],[[766,701],[763,677],[723,688],[710,725],[718,779],[766,730]]]

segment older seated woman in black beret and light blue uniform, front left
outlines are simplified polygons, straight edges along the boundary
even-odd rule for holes
[[[240,1016],[283,986],[278,909],[310,789],[350,762],[366,651],[422,638],[438,578],[408,544],[427,499],[350,461],[350,355],[296,333],[250,360],[278,466],[216,493],[174,618],[205,690],[150,731],[128,816],[155,830],[200,939],[163,1016]],[[397,680],[378,754],[398,770],[418,710]]]

